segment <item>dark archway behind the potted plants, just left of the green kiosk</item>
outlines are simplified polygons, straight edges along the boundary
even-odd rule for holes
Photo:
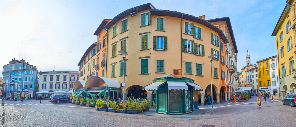
[[[147,97],[147,91],[142,90],[143,86],[139,85],[133,85],[128,87],[125,90],[125,93],[127,93],[127,97],[129,98],[135,98],[135,99],[140,99],[140,98],[145,98]]]

